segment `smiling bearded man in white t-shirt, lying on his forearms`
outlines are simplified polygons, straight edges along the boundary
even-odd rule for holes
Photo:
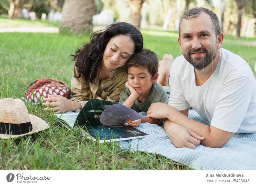
[[[216,14],[193,8],[180,20],[182,56],[171,68],[169,104],[151,104],[148,117],[166,118],[176,147],[222,147],[234,133],[256,132],[256,81],[240,56],[221,48],[224,35]],[[192,107],[210,127],[188,118]]]

